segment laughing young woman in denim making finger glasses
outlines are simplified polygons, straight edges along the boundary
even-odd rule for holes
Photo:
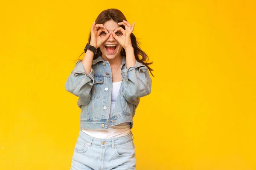
[[[140,97],[151,92],[153,71],[134,30],[118,9],[93,23],[84,59],[65,88],[79,96],[80,132],[71,170],[134,170],[133,117]]]

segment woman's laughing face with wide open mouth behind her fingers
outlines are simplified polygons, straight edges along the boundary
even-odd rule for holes
[[[108,30],[109,33],[111,31],[114,31],[116,28],[120,27],[115,21],[109,20],[103,24],[105,28]],[[104,37],[106,35],[105,32],[102,32],[100,34],[101,37]],[[116,32],[117,36],[121,36],[122,32],[117,31]],[[121,50],[122,46],[118,43],[116,39],[110,34],[108,37],[108,40],[102,43],[102,45],[99,46],[100,51],[102,51],[102,58],[105,60],[108,59],[114,59],[116,56],[120,55],[121,57]]]

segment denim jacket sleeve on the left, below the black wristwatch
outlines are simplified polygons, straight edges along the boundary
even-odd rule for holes
[[[89,74],[85,73],[84,65],[81,61],[69,75],[65,88],[75,96],[79,96],[78,106],[87,105],[90,102],[91,89],[94,83],[94,71],[91,69]]]

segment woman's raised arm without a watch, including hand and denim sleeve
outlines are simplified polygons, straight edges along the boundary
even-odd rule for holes
[[[113,37],[125,48],[126,65],[125,69],[121,71],[122,91],[127,102],[138,105],[140,97],[146,96],[151,93],[151,77],[148,74],[148,68],[140,62],[137,62],[134,56],[134,48],[131,44],[131,33],[134,30],[135,23],[132,26],[123,21],[118,23],[125,26],[116,28],[111,32]],[[122,36],[117,36],[116,31],[121,31]]]

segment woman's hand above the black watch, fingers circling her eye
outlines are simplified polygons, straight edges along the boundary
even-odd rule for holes
[[[101,36],[102,31],[106,33],[105,36]],[[109,36],[110,32],[106,30],[103,24],[96,24],[95,21],[93,22],[93,25],[91,27],[90,45],[93,45],[95,48],[99,48],[99,46],[102,45],[103,42],[108,40]]]

